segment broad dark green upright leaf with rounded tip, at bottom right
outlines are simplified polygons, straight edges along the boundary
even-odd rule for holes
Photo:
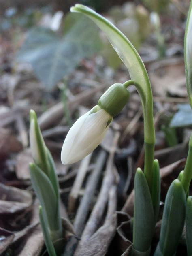
[[[181,237],[186,214],[186,194],[181,182],[175,179],[166,195],[160,241],[154,256],[173,256]]]

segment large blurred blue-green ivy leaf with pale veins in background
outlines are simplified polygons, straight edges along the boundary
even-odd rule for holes
[[[77,64],[100,50],[98,31],[86,17],[66,15],[64,36],[48,28],[33,28],[17,54],[19,61],[30,62],[35,75],[51,89]],[[91,35],[91,36],[90,36]]]

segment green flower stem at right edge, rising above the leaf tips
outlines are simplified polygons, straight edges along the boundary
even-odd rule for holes
[[[186,160],[186,165],[185,169],[183,172],[183,177],[181,179],[181,183],[183,185],[183,188],[187,194],[189,190],[189,185],[192,179],[192,133],[190,136],[190,141],[189,141],[189,151],[188,151],[188,156]]]

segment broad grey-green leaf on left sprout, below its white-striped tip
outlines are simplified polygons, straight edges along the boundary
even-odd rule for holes
[[[58,230],[61,226],[58,198],[51,181],[36,164],[30,163],[29,169],[33,188],[43,208],[44,218],[47,219],[50,230]]]

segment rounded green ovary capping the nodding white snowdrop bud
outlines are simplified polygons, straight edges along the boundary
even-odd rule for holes
[[[111,116],[118,115],[129,100],[129,91],[122,83],[114,83],[102,94],[98,101],[99,107]]]

